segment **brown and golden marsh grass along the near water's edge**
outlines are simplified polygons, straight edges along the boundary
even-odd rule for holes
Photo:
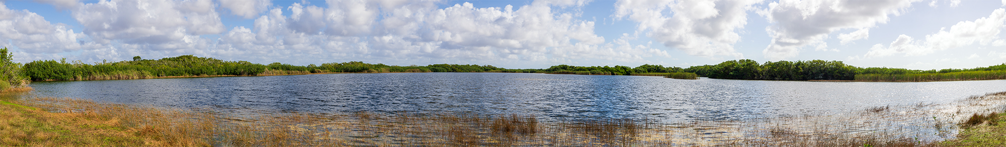
[[[0,133],[28,134],[0,137],[0,146],[933,145],[901,135],[844,134],[828,130],[829,126],[798,127],[786,122],[738,125],[729,121],[666,124],[650,119],[542,121],[534,115],[416,112],[235,116],[68,98],[35,97],[14,103],[41,109],[2,113],[19,117],[0,118],[16,118],[16,122],[37,119],[46,125],[0,127],[4,131],[35,130]],[[22,109],[0,108],[4,112]],[[10,122],[0,124],[15,124]],[[48,141],[52,137],[64,140]]]

